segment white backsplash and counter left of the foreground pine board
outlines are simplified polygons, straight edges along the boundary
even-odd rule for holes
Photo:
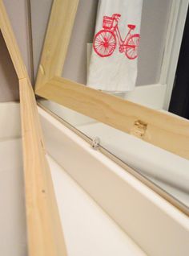
[[[0,255],[26,256],[20,109],[0,103]]]

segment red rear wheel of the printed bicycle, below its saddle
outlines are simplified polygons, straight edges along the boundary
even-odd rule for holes
[[[135,34],[135,35],[131,35],[131,37],[127,40],[125,53],[127,58],[130,60],[135,60],[138,57],[139,39],[140,39],[140,35]]]

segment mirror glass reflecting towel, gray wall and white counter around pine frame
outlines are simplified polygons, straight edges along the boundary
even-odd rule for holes
[[[37,9],[37,2],[31,1],[35,74],[52,4],[42,1]],[[175,22],[188,19],[187,11],[185,16],[177,12],[176,18],[171,0],[110,2],[79,1],[62,77],[188,118],[189,30],[187,23],[184,29],[185,22]],[[189,206],[187,159],[52,101],[40,102],[89,138],[99,138],[103,148]]]

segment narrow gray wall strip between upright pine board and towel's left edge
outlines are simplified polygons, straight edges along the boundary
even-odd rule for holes
[[[94,37],[97,0],[80,0],[62,76],[86,85],[86,43]]]

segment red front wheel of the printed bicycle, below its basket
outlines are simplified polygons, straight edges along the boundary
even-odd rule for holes
[[[101,57],[111,56],[115,51],[116,39],[115,34],[111,31],[102,30],[94,36],[93,48]]]

